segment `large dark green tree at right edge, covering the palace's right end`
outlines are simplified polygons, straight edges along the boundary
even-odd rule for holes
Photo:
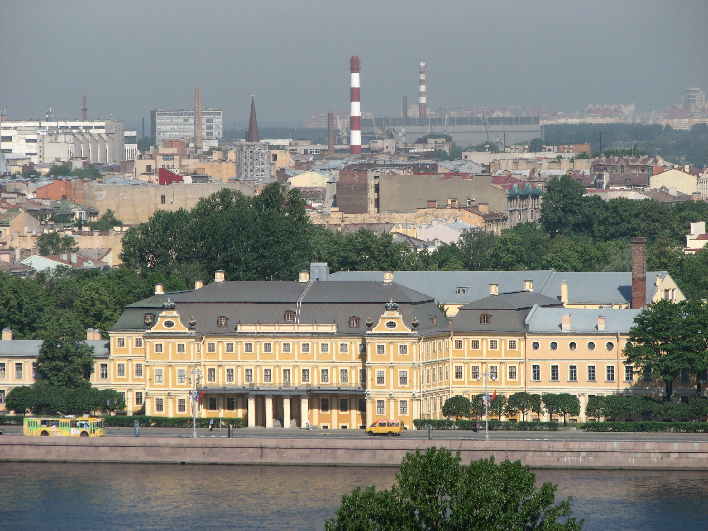
[[[627,363],[660,376],[666,396],[673,396],[673,382],[681,372],[708,368],[707,309],[700,302],[652,302],[634,318],[624,348]]]

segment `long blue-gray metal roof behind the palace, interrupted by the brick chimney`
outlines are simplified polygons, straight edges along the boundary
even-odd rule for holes
[[[656,293],[656,275],[646,273],[646,299]],[[341,271],[329,275],[330,281],[382,282],[381,271]],[[433,297],[445,304],[469,304],[489,295],[489,285],[498,284],[499,293],[523,290],[524,281],[533,282],[533,291],[560,300],[561,280],[568,280],[569,304],[627,304],[632,301],[632,273],[549,271],[395,271],[394,282]],[[462,288],[464,293],[457,293]]]

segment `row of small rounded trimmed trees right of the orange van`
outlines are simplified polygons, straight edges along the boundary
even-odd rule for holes
[[[544,413],[551,416],[563,416],[565,424],[568,416],[578,416],[580,414],[580,401],[578,397],[569,393],[542,393],[531,394],[518,392],[510,394],[497,394],[493,400],[489,401],[489,415],[501,418],[501,416],[516,416],[521,414],[522,421],[525,421],[529,413],[535,413],[537,418]],[[442,414],[446,417],[472,418],[484,415],[484,394],[472,396],[472,400],[467,396],[451,396],[445,400],[442,406]]]

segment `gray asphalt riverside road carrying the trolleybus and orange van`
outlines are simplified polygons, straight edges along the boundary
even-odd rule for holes
[[[22,426],[0,426],[5,435],[21,435]],[[108,437],[135,437],[133,428],[106,428]],[[198,437],[227,438],[227,429],[197,429]],[[141,437],[191,437],[189,428],[140,428]],[[379,437],[385,435],[378,435]],[[239,438],[304,438],[304,439],[359,439],[367,437],[364,430],[302,430],[300,428],[241,428],[234,430]],[[408,430],[406,439],[427,439],[427,430]],[[433,430],[433,440],[484,440],[484,430],[477,433],[467,430]],[[656,442],[708,442],[708,433],[597,433],[582,430],[553,431],[490,431],[489,440],[583,440],[583,441],[656,441]]]

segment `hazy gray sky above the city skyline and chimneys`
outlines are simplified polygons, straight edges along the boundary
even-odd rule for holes
[[[418,97],[447,105],[636,103],[639,112],[708,89],[708,2],[0,0],[0,110],[11,119],[89,118],[137,126],[149,110],[224,110],[245,127],[303,125],[347,109],[349,57],[362,110],[399,115]]]

